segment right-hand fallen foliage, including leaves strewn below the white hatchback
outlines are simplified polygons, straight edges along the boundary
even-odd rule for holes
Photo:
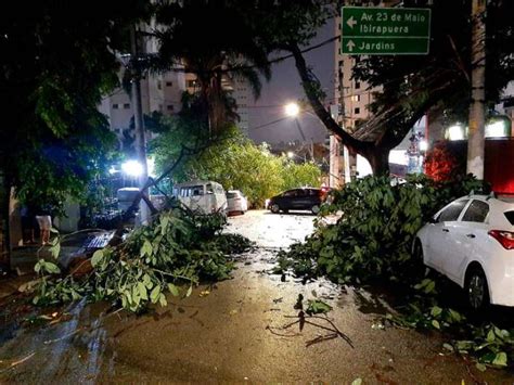
[[[486,189],[472,177],[436,182],[416,176],[396,185],[388,177],[367,177],[346,184],[322,208],[322,215],[338,213],[340,219],[330,226],[318,220],[305,243],[280,254],[277,270],[337,283],[388,282],[401,301],[386,323],[448,332],[452,339],[445,348],[475,357],[479,370],[505,367],[514,361],[514,330],[470,322],[444,296],[448,281],[426,278],[422,262],[411,256],[414,235],[431,216],[459,196]]]

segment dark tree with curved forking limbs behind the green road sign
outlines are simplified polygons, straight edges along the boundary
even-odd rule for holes
[[[348,1],[354,3],[354,1]],[[375,172],[388,170],[388,152],[428,111],[466,116],[471,98],[471,1],[403,1],[402,7],[432,9],[431,50],[427,55],[372,55],[361,57],[352,78],[377,88],[372,117],[349,133],[324,108],[319,81],[305,62],[299,44],[292,41],[305,92],[313,111],[343,144],[370,161]],[[486,17],[486,95],[489,105],[514,78],[514,4],[488,2]]]

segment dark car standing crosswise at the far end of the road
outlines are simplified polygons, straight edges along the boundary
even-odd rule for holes
[[[287,190],[270,198],[267,208],[274,214],[287,213],[290,209],[311,210],[312,214],[318,214],[325,195],[323,190],[316,188]]]

